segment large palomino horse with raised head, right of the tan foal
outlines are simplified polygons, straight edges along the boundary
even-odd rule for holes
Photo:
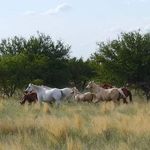
[[[104,89],[94,83],[94,81],[90,81],[86,86],[87,89],[92,89],[96,94],[97,102],[98,101],[114,101],[115,103],[120,101],[121,93],[118,88]],[[123,96],[123,95],[122,95]],[[126,101],[124,103],[127,103]]]

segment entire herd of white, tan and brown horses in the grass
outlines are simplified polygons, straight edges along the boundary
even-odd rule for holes
[[[30,83],[24,92],[20,104],[23,105],[26,102],[29,104],[36,102],[53,103],[54,101],[59,105],[64,99],[74,99],[77,102],[89,103],[101,101],[120,103],[120,100],[122,99],[125,104],[128,102],[132,103],[131,91],[126,87],[117,88],[110,84],[96,84],[94,81],[90,81],[87,84],[86,89],[89,91],[81,93],[76,87],[59,89]],[[127,100],[128,97],[129,101]]]

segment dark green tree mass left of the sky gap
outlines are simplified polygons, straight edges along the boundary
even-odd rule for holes
[[[91,77],[92,68],[87,62],[70,58],[69,45],[54,42],[49,35],[39,32],[29,39],[17,36],[3,39],[0,54],[0,89],[7,96],[12,96],[17,88],[24,88],[29,82],[64,87],[70,81],[80,83]]]

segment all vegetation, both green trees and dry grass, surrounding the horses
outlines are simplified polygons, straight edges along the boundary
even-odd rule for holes
[[[148,150],[150,104],[150,34],[121,33],[97,43],[87,60],[72,58],[71,46],[37,33],[28,39],[0,42],[0,149],[2,150]],[[89,80],[129,85],[133,104],[70,103],[59,107],[21,106],[29,82],[49,87],[76,86]],[[132,92],[133,92],[132,91]],[[140,96],[141,96],[140,95]]]

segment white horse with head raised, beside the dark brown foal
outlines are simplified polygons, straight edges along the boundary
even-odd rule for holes
[[[38,101],[41,102],[49,102],[51,103],[53,100],[56,101],[56,104],[60,104],[64,97],[67,97],[69,94],[68,91],[71,91],[70,88],[58,89],[58,88],[45,88],[45,86],[37,86],[29,83],[26,92],[35,91],[37,93]]]

